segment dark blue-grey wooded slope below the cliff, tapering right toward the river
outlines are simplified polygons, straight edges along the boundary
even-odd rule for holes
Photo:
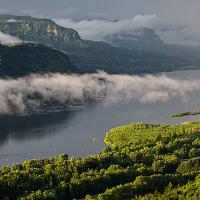
[[[72,62],[85,72],[100,69],[116,74],[143,74],[181,70],[188,65],[184,59],[157,52],[113,47],[105,42],[87,43],[88,48],[76,48],[70,55]]]

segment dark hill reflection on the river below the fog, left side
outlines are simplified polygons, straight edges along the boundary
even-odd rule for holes
[[[1,116],[0,117],[0,145],[7,143],[9,138],[15,140],[24,140],[26,138],[44,138],[46,135],[55,134],[53,127],[68,119],[72,119],[76,111],[67,111],[59,113],[33,114],[24,116]],[[41,134],[41,130],[45,130]],[[29,132],[29,134],[27,134]]]

